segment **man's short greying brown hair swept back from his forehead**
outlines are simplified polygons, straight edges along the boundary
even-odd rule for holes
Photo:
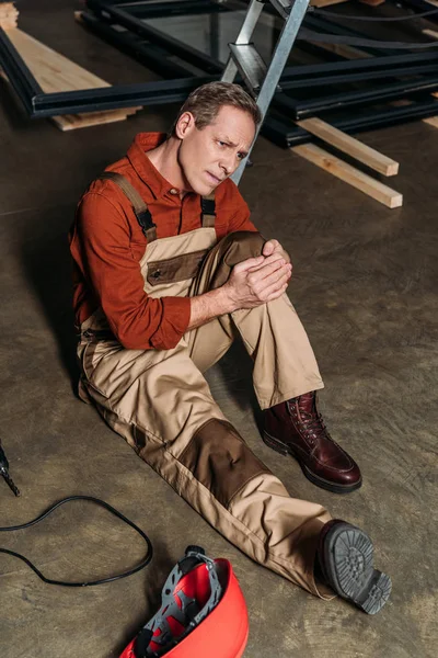
[[[208,82],[195,89],[181,107],[170,135],[175,134],[175,127],[180,116],[184,112],[191,112],[195,117],[198,131],[210,125],[217,117],[223,105],[231,105],[250,114],[257,126],[262,121],[262,114],[255,101],[239,84],[232,82]]]

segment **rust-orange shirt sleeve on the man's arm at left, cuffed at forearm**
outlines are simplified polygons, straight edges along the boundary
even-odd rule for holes
[[[130,250],[123,212],[100,193],[88,193],[78,206],[76,235],[82,274],[124,348],[169,350],[185,333],[191,315],[187,297],[149,297],[139,262]]]

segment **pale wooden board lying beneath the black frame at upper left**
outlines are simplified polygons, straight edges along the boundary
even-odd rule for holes
[[[9,30],[8,36],[45,93],[111,87],[102,78],[91,73],[19,29]],[[138,110],[140,107],[68,114],[51,117],[51,121],[61,131],[71,131],[73,128],[124,121]]]

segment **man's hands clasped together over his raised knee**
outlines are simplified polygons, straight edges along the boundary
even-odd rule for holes
[[[250,258],[234,265],[222,286],[231,303],[230,311],[255,308],[277,299],[287,288],[291,270],[292,266],[275,250],[268,257]]]

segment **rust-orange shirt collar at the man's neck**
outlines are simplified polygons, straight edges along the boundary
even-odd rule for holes
[[[130,164],[155,198],[164,196],[173,186],[161,175],[146,154],[160,146],[165,138],[165,133],[138,133],[127,152]]]

